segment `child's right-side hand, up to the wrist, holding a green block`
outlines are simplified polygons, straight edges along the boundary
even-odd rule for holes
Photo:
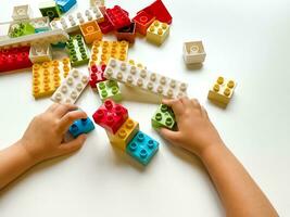
[[[178,100],[163,100],[175,113],[178,131],[165,128],[160,133],[175,145],[201,156],[210,145],[223,143],[219,135],[211,123],[206,111],[198,100],[182,98]]]

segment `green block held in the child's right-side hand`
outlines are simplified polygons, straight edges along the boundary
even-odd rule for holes
[[[173,110],[165,104],[161,104],[151,118],[151,125],[154,129],[162,127],[175,129],[176,120]]]

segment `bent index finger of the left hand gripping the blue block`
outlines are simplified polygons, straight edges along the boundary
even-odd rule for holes
[[[77,119],[87,118],[87,114],[83,111],[73,111],[66,113],[60,120],[59,129],[61,132],[66,132],[72,124]]]

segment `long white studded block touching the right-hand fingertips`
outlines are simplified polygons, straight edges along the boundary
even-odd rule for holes
[[[187,95],[187,84],[113,58],[106,65],[104,77],[165,98],[176,99]]]

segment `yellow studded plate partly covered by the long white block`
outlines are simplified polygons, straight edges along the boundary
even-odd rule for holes
[[[110,58],[125,61],[128,48],[129,43],[127,41],[94,41],[89,65],[106,65]]]

